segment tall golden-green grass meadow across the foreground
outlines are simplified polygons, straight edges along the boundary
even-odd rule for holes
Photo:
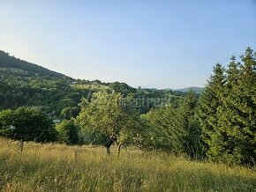
[[[0,138],[0,191],[256,191],[256,170],[159,152]]]

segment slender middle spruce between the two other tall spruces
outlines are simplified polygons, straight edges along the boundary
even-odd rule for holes
[[[230,58],[228,70],[226,70],[227,78],[223,90],[221,92],[222,105],[217,107],[217,126],[215,131],[222,137],[220,146],[215,150],[218,161],[235,163],[234,150],[237,146],[236,138],[234,137],[234,129],[239,128],[237,122],[237,110],[234,106],[234,101],[237,100],[237,84],[240,78],[239,71],[240,63],[236,62],[236,57]]]

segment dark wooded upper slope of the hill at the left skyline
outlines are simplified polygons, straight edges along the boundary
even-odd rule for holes
[[[55,71],[43,68],[37,64],[28,63],[14,56],[10,56],[8,53],[5,53],[4,51],[1,51],[1,50],[0,50],[0,68],[25,70],[27,72],[34,73],[35,75],[41,75],[41,76],[50,76],[50,77],[56,77],[56,78],[66,77],[61,73],[57,73]]]

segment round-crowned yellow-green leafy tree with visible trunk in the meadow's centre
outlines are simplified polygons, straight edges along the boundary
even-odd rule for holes
[[[110,153],[112,144],[130,143],[139,128],[139,114],[132,107],[132,97],[119,92],[94,92],[91,102],[83,99],[77,122],[86,142],[101,144]]]

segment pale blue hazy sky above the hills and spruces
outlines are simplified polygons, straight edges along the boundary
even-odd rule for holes
[[[72,78],[203,86],[256,48],[256,0],[0,0],[0,49]]]

